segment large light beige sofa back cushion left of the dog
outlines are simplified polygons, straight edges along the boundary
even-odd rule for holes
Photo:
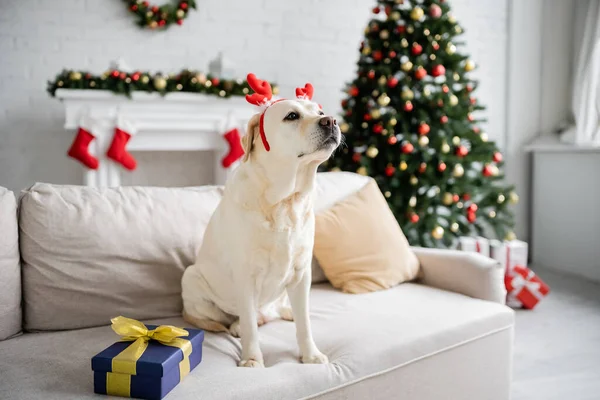
[[[106,325],[180,315],[222,189],[36,184],[21,198],[25,328]]]

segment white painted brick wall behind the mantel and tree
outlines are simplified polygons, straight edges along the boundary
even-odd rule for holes
[[[160,0],[157,2],[160,3]],[[140,30],[120,0],[1,0],[0,185],[20,190],[36,181],[81,182],[66,157],[72,134],[62,107],[45,92],[63,67],[100,72],[124,57],[133,68],[164,72],[206,69],[218,51],[237,65],[280,83],[282,92],[311,81],[326,110],[339,110],[353,76],[372,0],[198,0],[183,27]],[[479,97],[488,106],[488,132],[504,136],[507,0],[453,0],[466,27],[468,51],[479,63]],[[137,153],[126,183],[208,183],[203,154]]]

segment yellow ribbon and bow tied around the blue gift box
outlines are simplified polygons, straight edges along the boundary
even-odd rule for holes
[[[150,340],[183,351],[183,360],[179,363],[180,382],[190,372],[189,357],[192,354],[192,343],[181,338],[189,335],[185,329],[171,325],[148,329],[140,321],[125,317],[113,318],[111,322],[113,331],[121,336],[122,341],[133,341],[133,343],[113,358],[112,372],[106,373],[106,394],[130,397],[131,375],[136,375],[137,361],[148,348]]]

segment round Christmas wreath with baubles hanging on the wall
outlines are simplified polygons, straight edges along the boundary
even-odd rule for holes
[[[178,0],[175,4],[164,4],[160,7],[141,0],[123,1],[127,3],[129,11],[137,16],[137,24],[149,29],[165,29],[173,23],[181,25],[190,9],[196,8],[195,0]]]

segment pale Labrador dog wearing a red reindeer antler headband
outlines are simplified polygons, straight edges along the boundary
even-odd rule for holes
[[[258,101],[252,101],[257,94],[247,96],[249,102],[270,100],[268,84],[253,75],[248,81],[260,94]],[[312,86],[296,93],[298,99],[270,103],[250,119],[242,163],[182,279],[185,320],[240,337],[242,367],[264,366],[258,326],[277,318],[295,321],[302,362],[328,362],[309,320],[313,191],[317,168],[339,146],[341,133],[310,100]]]

